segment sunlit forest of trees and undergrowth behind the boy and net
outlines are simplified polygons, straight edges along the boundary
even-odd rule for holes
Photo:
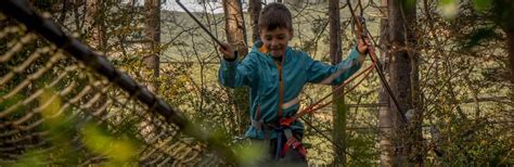
[[[31,2],[198,126],[221,134],[226,144],[246,143],[241,139],[249,124],[246,88],[232,90],[218,84],[217,43],[175,1]],[[258,40],[256,18],[269,2],[183,1],[218,39],[237,46],[240,54]],[[356,38],[346,1],[280,2],[293,13],[291,47],[327,64],[348,55]],[[367,21],[399,108],[376,72],[346,95],[334,95],[332,105],[305,116],[316,127],[307,127],[305,133],[309,164],[514,164],[514,23],[510,21],[514,2],[351,0],[351,4]],[[364,67],[370,64],[368,59]],[[301,106],[334,89],[306,86]],[[244,155],[252,159],[252,153]]]

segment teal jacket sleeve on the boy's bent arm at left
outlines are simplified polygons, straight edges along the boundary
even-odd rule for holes
[[[248,54],[241,63],[221,60],[218,80],[224,87],[236,88],[249,86],[257,79],[257,55]]]

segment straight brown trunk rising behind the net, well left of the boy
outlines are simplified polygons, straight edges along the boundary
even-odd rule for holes
[[[144,1],[144,35],[147,41],[144,49],[149,51],[144,56],[143,62],[146,69],[151,70],[149,88],[153,92],[158,89],[159,75],[159,43],[160,43],[160,0],[145,0]]]

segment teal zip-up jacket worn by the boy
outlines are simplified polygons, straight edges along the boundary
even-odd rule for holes
[[[358,56],[358,51],[354,49],[345,61],[337,65],[327,65],[312,60],[306,52],[288,47],[282,62],[282,116],[296,114],[299,108],[298,94],[307,82],[339,85],[359,70],[362,64],[357,61]],[[259,52],[258,47],[254,46],[242,62],[222,60],[218,79],[224,87],[249,87],[250,118],[262,120],[265,124],[275,124],[279,121],[279,72],[273,57]],[[260,112],[257,112],[258,108]],[[259,114],[257,115],[257,113]],[[300,121],[294,121],[291,128],[294,132],[303,134],[304,125]],[[264,139],[264,131],[256,130],[250,126],[245,136],[253,139]],[[274,131],[272,131],[271,138],[277,138]]]

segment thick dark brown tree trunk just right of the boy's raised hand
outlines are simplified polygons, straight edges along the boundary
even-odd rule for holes
[[[390,68],[389,68],[389,82],[399,102],[399,107],[397,108],[395,105],[390,105],[390,111],[394,113],[398,113],[401,111],[406,114],[406,112],[412,110],[412,114],[414,117],[420,115],[421,111],[413,110],[413,100],[412,100],[412,82],[411,82],[411,75],[413,73],[412,64],[411,64],[411,56],[409,50],[414,48],[415,35],[413,30],[413,25],[415,24],[415,7],[407,7],[402,4],[403,1],[400,0],[393,0],[388,3],[388,26],[389,26],[389,40],[391,44],[391,52],[390,52]],[[415,4],[415,2],[414,2]],[[408,48],[404,50],[403,48]],[[396,114],[397,115],[397,114]],[[404,124],[402,119],[399,119],[399,115],[396,116],[394,119],[396,121],[395,131],[396,137],[399,137],[399,140],[395,140],[398,143],[395,144],[397,149],[397,155],[394,158],[395,166],[412,166],[414,164],[411,163],[420,163],[422,159],[419,159],[416,156],[419,153],[414,155],[414,147],[416,143],[419,143],[419,134],[421,134],[421,126],[416,126],[416,124],[421,124],[421,121],[416,121],[413,119],[412,125]],[[420,129],[417,128],[420,127]],[[406,129],[407,128],[407,129]]]

